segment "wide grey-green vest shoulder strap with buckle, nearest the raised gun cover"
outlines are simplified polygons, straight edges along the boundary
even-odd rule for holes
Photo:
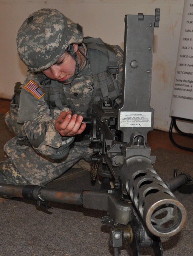
[[[119,90],[115,81],[115,75],[119,72],[119,61],[114,49],[104,43],[100,38],[84,37],[89,56],[89,63],[94,79],[94,91],[89,102],[88,116],[93,102],[103,100],[115,100],[119,96]]]

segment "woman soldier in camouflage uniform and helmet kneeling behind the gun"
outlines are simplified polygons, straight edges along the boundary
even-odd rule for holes
[[[45,185],[92,148],[83,117],[93,102],[120,103],[123,52],[100,38],[83,38],[79,24],[55,9],[32,13],[17,34],[28,71],[5,121],[15,137],[4,146],[0,182]]]

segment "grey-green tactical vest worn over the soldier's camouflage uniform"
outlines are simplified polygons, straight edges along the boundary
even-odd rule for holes
[[[86,99],[88,101],[87,106],[77,108],[70,96],[65,95],[63,84],[45,78],[42,83],[44,84],[45,100],[49,103],[51,113],[53,113],[54,107],[62,110],[64,106],[67,106],[72,109],[73,113],[88,110],[86,116],[89,116],[93,103],[97,103],[101,98],[107,101],[109,99],[115,100],[120,94],[114,79],[119,72],[120,63],[116,59],[113,48],[105,44],[100,38],[84,37],[83,43],[87,47],[88,57],[86,58],[89,60],[94,80],[92,96]],[[81,105],[82,99],[75,101],[76,104],[80,103]]]

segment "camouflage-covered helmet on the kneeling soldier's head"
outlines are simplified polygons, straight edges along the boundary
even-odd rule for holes
[[[55,9],[32,13],[17,33],[20,59],[32,71],[42,71],[53,65],[72,43],[83,41],[79,24]]]

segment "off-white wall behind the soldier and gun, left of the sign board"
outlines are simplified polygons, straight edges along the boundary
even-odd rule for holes
[[[154,128],[169,130],[183,5],[184,0],[0,0],[0,97],[10,99],[15,82],[25,78],[26,67],[18,57],[15,40],[32,12],[58,9],[83,26],[84,36],[101,37],[123,48],[125,14],[154,15],[155,8],[160,8],[160,27],[154,30],[151,106]]]

